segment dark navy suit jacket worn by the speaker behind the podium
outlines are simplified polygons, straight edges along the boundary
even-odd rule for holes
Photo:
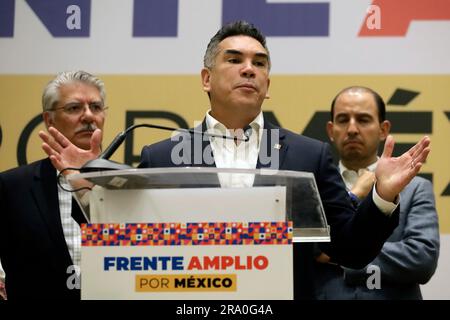
[[[274,150],[276,143],[279,148],[278,169],[307,171],[314,173],[317,187],[325,210],[327,222],[331,228],[331,244],[322,245],[322,250],[328,253],[339,264],[354,268],[361,268],[373,260],[380,251],[384,241],[392,233],[398,224],[398,213],[387,217],[375,206],[372,196],[367,197],[355,213],[342,178],[333,164],[329,145],[305,136],[301,136],[288,130],[278,128],[265,121],[264,129],[279,130],[279,141],[262,139],[261,151],[257,168],[267,167],[261,159],[265,154]],[[203,121],[202,128],[206,130]],[[196,163],[194,161],[195,140],[189,134],[183,134],[183,139],[164,140],[151,146],[145,146],[141,154],[140,167],[174,167],[174,166],[215,166],[214,163]],[[209,145],[208,139],[203,139],[202,148]],[[180,150],[179,141],[191,144],[190,150],[182,154],[183,163],[174,163],[172,150]],[[207,150],[210,150],[207,149]],[[178,152],[178,151],[177,151]],[[192,161],[191,161],[192,160]],[[196,159],[198,160],[198,159]],[[294,296],[296,299],[308,299],[314,297],[312,275],[313,246],[311,244],[294,245]]]

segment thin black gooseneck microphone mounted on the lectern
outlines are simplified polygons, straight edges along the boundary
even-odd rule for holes
[[[226,136],[216,133],[209,133],[209,132],[202,132],[202,131],[195,131],[194,129],[183,129],[183,128],[171,128],[166,126],[159,126],[155,124],[135,124],[131,127],[128,127],[126,130],[120,132],[114,140],[110,143],[110,145],[103,151],[100,156],[97,159],[90,160],[86,162],[83,167],[80,168],[80,172],[93,172],[93,171],[104,171],[104,170],[124,170],[124,169],[133,169],[133,167],[118,163],[112,160],[109,160],[109,158],[114,154],[114,152],[117,150],[117,148],[120,147],[120,145],[123,143],[125,138],[127,137],[127,134],[130,131],[133,131],[136,128],[154,128],[154,129],[160,129],[160,130],[167,130],[167,131],[178,131],[178,132],[185,132],[190,134],[202,134],[206,135],[208,137],[216,137],[216,138],[222,138],[222,139],[232,139],[234,141],[244,141],[247,142],[250,140],[250,136],[252,134],[252,128],[247,125],[244,128],[244,138],[239,137],[232,137],[232,136]]]

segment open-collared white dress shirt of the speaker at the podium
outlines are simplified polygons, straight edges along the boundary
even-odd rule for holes
[[[208,132],[218,133],[226,136],[242,137],[242,130],[227,129],[222,123],[210,115],[210,110],[206,113],[206,126]],[[239,168],[255,169],[258,162],[260,141],[264,128],[264,117],[262,111],[250,123],[252,133],[249,141],[237,141],[232,139],[222,139],[210,137],[211,150],[214,155],[214,162],[217,168]],[[253,174],[219,174],[220,185],[222,187],[251,187],[255,177]]]

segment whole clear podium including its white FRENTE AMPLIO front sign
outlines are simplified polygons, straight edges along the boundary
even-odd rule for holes
[[[330,241],[314,175],[129,169],[69,175],[82,299],[292,299],[292,242]]]

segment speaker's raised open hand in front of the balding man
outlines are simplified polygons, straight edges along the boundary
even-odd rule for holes
[[[430,138],[427,136],[399,157],[392,157],[394,144],[394,138],[389,135],[375,170],[377,193],[389,202],[393,202],[417,175],[430,153]]]

